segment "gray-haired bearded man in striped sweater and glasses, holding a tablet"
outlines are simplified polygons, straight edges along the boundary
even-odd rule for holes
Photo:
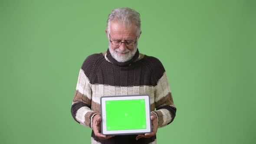
[[[92,128],[92,144],[156,144],[158,128],[174,120],[176,108],[161,62],[139,53],[140,14],[127,7],[112,10],[105,33],[107,51],[88,56],[80,69],[72,116],[79,124]],[[150,96],[152,132],[103,135],[100,97],[141,94]]]

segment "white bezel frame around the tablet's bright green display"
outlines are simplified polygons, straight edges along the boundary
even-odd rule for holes
[[[112,130],[107,131],[106,125],[106,103],[105,101],[116,101],[116,100],[145,100],[146,110],[146,129],[133,129],[133,130]],[[101,103],[101,116],[102,116],[102,134],[104,135],[126,135],[126,134],[145,134],[151,132],[151,119],[150,119],[150,98],[148,95],[121,95],[121,96],[104,96],[100,98]]]

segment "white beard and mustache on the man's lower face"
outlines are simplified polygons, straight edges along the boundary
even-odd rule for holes
[[[109,52],[111,53],[111,56],[118,62],[127,62],[129,60],[132,59],[132,57],[135,55],[137,49],[138,49],[138,46],[137,46],[137,43],[134,45],[134,49],[131,51],[130,49],[126,49],[125,51],[121,51],[120,49],[115,49],[113,50],[111,48],[111,43],[108,43],[108,49],[109,49]],[[124,55],[119,55],[118,52],[121,52],[121,53],[125,53],[127,52],[126,54]]]

